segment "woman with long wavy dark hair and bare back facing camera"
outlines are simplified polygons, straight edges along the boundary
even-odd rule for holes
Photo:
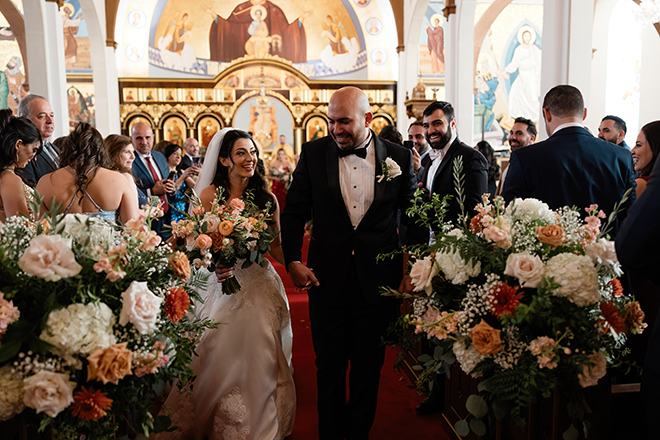
[[[103,137],[91,125],[80,122],[63,143],[60,169],[46,174],[37,184],[44,199],[42,214],[51,208],[51,199],[64,214],[88,214],[104,220],[126,223],[140,214],[137,193],[128,180],[106,169],[108,155]]]

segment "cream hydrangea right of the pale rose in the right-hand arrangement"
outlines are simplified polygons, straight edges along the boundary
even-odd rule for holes
[[[585,307],[600,300],[598,271],[591,258],[563,253],[548,260],[545,276],[552,277],[559,288],[556,296],[566,297],[572,303]]]

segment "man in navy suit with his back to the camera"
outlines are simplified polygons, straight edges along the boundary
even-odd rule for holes
[[[627,189],[632,194],[624,205],[635,200],[635,170],[632,155],[625,148],[598,139],[582,125],[587,116],[580,91],[569,85],[552,88],[543,99],[545,129],[550,136],[511,155],[504,183],[504,199],[533,197],[550,208],[597,203],[609,214]],[[613,225],[619,229],[625,211]]]

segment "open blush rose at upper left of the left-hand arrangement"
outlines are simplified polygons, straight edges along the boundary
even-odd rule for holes
[[[72,277],[82,270],[71,251],[71,241],[60,235],[37,235],[30,240],[30,245],[18,260],[18,267],[46,281]]]

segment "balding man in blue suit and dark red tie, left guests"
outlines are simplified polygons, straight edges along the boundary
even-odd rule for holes
[[[166,224],[167,211],[169,211],[167,194],[174,192],[174,182],[167,180],[170,167],[163,153],[152,151],[154,145],[154,132],[144,122],[138,122],[131,129],[131,139],[135,147],[135,161],[133,162],[133,177],[135,183],[147,197],[158,196],[163,203],[165,216],[151,222],[151,229],[162,235],[163,225]]]

